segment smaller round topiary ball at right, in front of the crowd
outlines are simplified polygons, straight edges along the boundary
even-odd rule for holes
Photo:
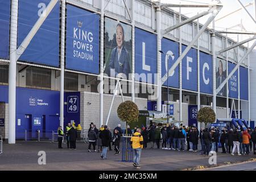
[[[200,123],[205,123],[205,127],[207,123],[214,123],[216,120],[216,114],[214,110],[210,107],[203,107],[197,113],[197,121]]]

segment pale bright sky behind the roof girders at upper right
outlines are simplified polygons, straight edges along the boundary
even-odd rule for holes
[[[220,13],[216,16],[216,20],[221,18],[222,16],[225,16],[232,11],[238,10],[241,8],[240,3],[237,0],[220,0],[223,7]],[[216,1],[212,0],[188,0],[188,1],[181,1],[181,0],[161,0],[162,3],[175,3],[175,4],[189,4],[189,5],[194,5],[194,4],[204,4],[204,3],[216,3]],[[247,3],[254,2],[254,0],[241,0],[243,5],[246,5]],[[179,11],[179,8],[171,8],[175,11]],[[196,15],[197,13],[200,13],[202,11],[207,10],[208,8],[181,8],[181,13],[191,17],[193,15]],[[246,7],[246,9],[251,13],[251,15],[255,18],[255,10],[254,10],[254,3],[251,6]],[[199,19],[200,23],[204,23],[207,19],[208,16],[203,16],[202,18]],[[216,30],[225,30],[226,28],[230,28],[228,31],[241,31],[241,27],[238,25],[241,24],[245,28],[246,31],[250,32],[256,32],[256,25],[253,22],[253,20],[250,18],[250,16],[246,13],[245,10],[240,10],[237,11],[236,13],[226,16],[226,18],[217,20],[215,23]],[[212,24],[210,24],[209,28],[212,27]],[[243,30],[243,31],[245,31]],[[237,35],[236,34],[229,34],[228,35],[230,38],[237,40]],[[247,35],[241,35],[239,39],[246,39],[249,36]]]

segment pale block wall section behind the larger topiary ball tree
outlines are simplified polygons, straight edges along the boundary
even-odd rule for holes
[[[111,94],[104,94],[104,111],[103,111],[103,122],[106,123],[106,119],[108,117],[108,112],[110,109],[110,104],[112,101],[113,95]],[[131,97],[124,97],[125,101],[131,100]],[[82,129],[89,129],[90,122],[96,124],[97,128],[100,126],[100,94],[98,93],[91,93],[91,92],[81,92],[81,99],[80,99],[80,119],[81,119],[81,126]],[[88,104],[91,103],[90,105]],[[108,126],[113,130],[118,123],[125,128],[125,123],[119,121],[117,116],[117,108],[119,104],[122,102],[121,96],[115,96],[114,104],[112,107],[112,111],[110,113]],[[147,99],[145,98],[135,98],[135,103],[138,105],[139,110],[146,110],[147,106]]]

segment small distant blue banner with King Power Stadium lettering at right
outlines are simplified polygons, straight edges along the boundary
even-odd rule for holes
[[[236,64],[228,63],[229,73],[232,72]],[[238,98],[238,70],[229,79],[229,97]]]

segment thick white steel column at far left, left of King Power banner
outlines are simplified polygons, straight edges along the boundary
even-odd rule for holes
[[[10,64],[9,64],[9,133],[8,143],[15,143],[16,123],[16,48],[18,34],[18,0],[11,1]]]

